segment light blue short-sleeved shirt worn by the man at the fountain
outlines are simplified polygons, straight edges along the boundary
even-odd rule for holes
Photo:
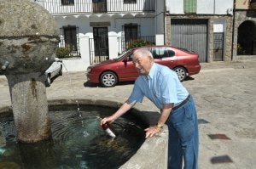
[[[150,99],[157,108],[162,109],[164,104],[181,103],[189,93],[178,80],[175,71],[164,65],[154,63],[148,76],[138,76],[128,101],[142,102],[143,97]]]

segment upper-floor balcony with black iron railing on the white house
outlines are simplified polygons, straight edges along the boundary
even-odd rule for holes
[[[152,13],[155,0],[35,0],[50,14]]]

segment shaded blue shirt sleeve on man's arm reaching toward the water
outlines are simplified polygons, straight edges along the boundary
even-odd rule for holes
[[[143,102],[143,91],[139,85],[139,81],[134,83],[131,96],[129,97],[128,101],[132,104],[136,104],[137,102]]]

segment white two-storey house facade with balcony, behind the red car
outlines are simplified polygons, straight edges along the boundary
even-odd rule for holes
[[[117,58],[138,42],[164,44],[164,1],[36,0],[55,18],[67,71]]]

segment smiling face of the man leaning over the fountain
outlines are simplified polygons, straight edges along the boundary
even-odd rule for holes
[[[153,60],[150,59],[149,57],[142,56],[141,54],[135,54],[132,57],[132,62],[135,68],[137,69],[137,72],[140,75],[145,75],[147,76],[149,73],[149,70],[151,66],[153,65]]]

